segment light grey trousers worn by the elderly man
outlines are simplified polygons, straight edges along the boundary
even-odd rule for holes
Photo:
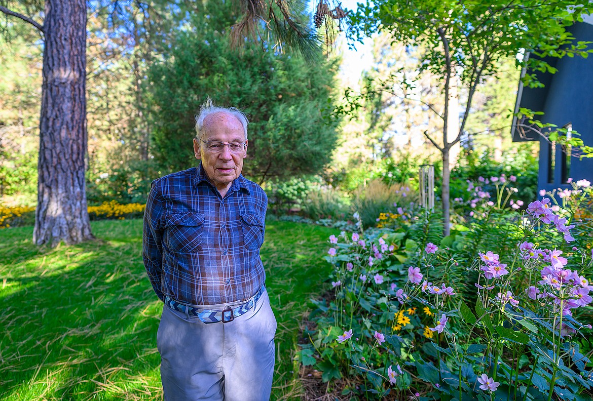
[[[208,309],[223,310],[227,305]],[[269,400],[275,334],[267,290],[255,307],[228,323],[206,324],[164,306],[157,348],[165,401]]]

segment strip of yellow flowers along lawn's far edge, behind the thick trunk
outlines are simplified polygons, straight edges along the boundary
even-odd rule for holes
[[[91,220],[124,220],[126,217],[128,219],[142,217],[144,207],[145,205],[142,203],[120,204],[110,201],[104,202],[101,206],[88,206],[87,210]],[[34,214],[35,207],[33,206],[0,206],[0,229],[33,224]]]

